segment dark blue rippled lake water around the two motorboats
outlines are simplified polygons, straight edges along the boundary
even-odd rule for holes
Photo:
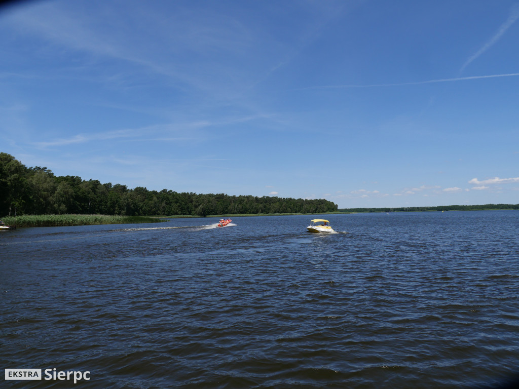
[[[6,387],[459,388],[519,372],[519,211],[0,234]]]

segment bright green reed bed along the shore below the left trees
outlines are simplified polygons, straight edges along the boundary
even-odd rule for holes
[[[150,216],[118,215],[21,215],[2,219],[6,225],[17,227],[88,226],[94,224],[160,223],[159,218]]]

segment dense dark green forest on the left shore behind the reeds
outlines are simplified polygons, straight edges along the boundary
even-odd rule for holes
[[[334,212],[331,201],[278,197],[200,195],[172,190],[129,189],[78,176],[55,176],[49,169],[28,168],[0,152],[0,216],[44,214],[225,215]]]

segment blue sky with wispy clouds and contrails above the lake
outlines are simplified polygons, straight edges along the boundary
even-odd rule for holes
[[[519,3],[26,1],[0,151],[149,190],[519,202]]]

